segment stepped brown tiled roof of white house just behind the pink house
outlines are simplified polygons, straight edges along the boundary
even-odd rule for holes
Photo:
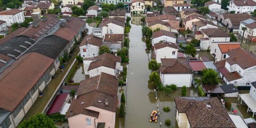
[[[108,67],[115,69],[116,67],[116,62],[121,62],[121,57],[120,56],[115,56],[109,53],[105,53],[99,56],[94,57],[96,59],[99,59],[97,61],[91,62],[90,66],[88,68],[89,70],[98,68],[100,66]]]

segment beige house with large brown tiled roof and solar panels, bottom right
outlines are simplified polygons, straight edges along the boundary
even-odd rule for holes
[[[236,128],[217,97],[175,97],[180,128]]]

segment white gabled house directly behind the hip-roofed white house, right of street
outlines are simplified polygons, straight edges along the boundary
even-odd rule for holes
[[[176,43],[162,41],[155,44],[154,56],[157,63],[161,63],[161,58],[177,58],[179,47]]]

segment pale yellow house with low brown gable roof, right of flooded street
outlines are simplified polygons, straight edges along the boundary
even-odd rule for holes
[[[153,22],[148,23],[148,27],[154,31],[157,28],[160,28],[162,30],[171,31],[170,24],[167,24],[165,22],[162,22],[161,20],[154,20]]]

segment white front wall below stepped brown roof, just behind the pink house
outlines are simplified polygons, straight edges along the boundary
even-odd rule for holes
[[[111,74],[111,75],[115,75],[115,69],[100,66],[98,68],[89,70],[89,76],[93,77],[93,76],[99,75],[101,72],[108,73],[108,74]]]

